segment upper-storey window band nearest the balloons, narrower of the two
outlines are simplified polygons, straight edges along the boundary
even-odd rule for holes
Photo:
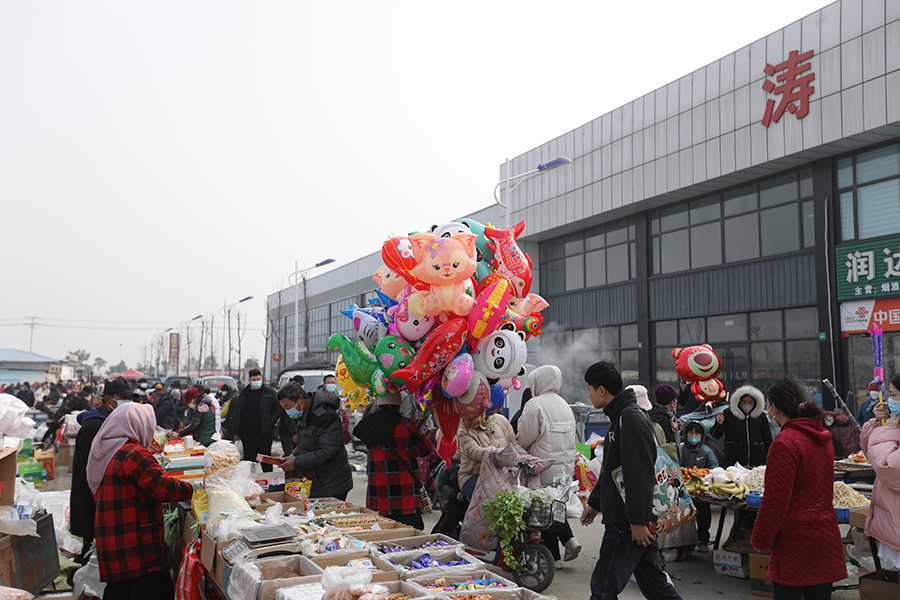
[[[633,219],[593,227],[541,244],[541,292],[573,292],[633,279]]]

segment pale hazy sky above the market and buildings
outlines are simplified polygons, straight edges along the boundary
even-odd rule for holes
[[[824,0],[0,2],[0,348],[109,363]],[[218,341],[216,348],[219,347]],[[218,353],[218,350],[216,351]]]

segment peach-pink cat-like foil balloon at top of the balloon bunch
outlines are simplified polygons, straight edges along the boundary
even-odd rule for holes
[[[413,275],[429,285],[427,290],[410,296],[409,306],[414,314],[469,314],[475,300],[466,293],[466,287],[471,286],[469,279],[475,273],[476,237],[471,233],[457,233],[449,238],[417,233],[409,238],[417,262]]]

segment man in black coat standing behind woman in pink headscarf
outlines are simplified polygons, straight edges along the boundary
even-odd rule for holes
[[[81,429],[75,438],[75,453],[72,457],[69,531],[84,540],[82,557],[87,557],[91,542],[94,541],[94,514],[97,511],[94,495],[87,484],[87,461],[91,446],[103,421],[116,409],[119,400],[131,400],[133,395],[128,382],[119,377],[103,388],[103,400],[99,406],[77,417]]]

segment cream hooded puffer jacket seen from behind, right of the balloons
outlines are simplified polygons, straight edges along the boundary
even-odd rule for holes
[[[560,473],[571,477],[575,471],[575,415],[559,395],[559,367],[538,367],[528,376],[528,386],[534,396],[519,419],[519,445],[528,454],[554,461],[541,473],[541,485],[547,486]]]

